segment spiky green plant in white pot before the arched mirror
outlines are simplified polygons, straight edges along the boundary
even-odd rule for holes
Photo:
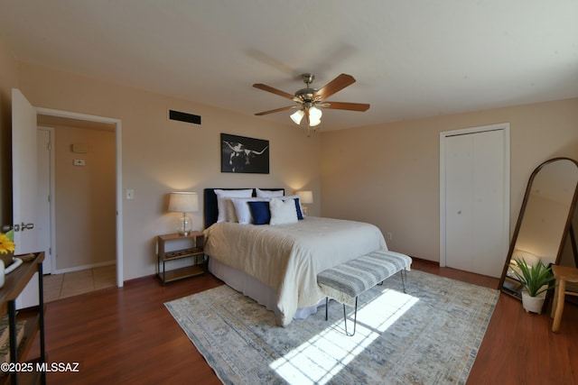
[[[540,314],[544,306],[545,292],[552,289],[548,284],[555,280],[552,269],[541,260],[534,266],[528,265],[523,259],[516,260],[516,263],[518,269],[514,269],[514,273],[525,288],[522,291],[522,306],[527,312]]]

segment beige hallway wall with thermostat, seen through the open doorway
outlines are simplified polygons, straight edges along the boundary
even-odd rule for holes
[[[84,143],[88,152],[71,150]],[[115,133],[54,128],[56,270],[115,262]],[[75,166],[74,160],[84,160]]]

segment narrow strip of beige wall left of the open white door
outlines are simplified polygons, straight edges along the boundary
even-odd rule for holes
[[[12,223],[12,88],[18,87],[18,65],[0,39],[0,225]]]

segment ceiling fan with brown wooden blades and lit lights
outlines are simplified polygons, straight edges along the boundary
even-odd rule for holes
[[[341,74],[337,78],[334,78],[329,83],[327,83],[322,88],[312,88],[310,85],[315,79],[313,74],[303,74],[303,82],[307,87],[302,88],[291,95],[287,92],[281,91],[274,87],[266,86],[265,84],[257,83],[253,87],[262,89],[272,94],[286,97],[296,102],[296,105],[288,105],[286,107],[275,108],[274,110],[264,111],[262,113],[256,113],[255,115],[268,115],[275,114],[281,111],[287,111],[292,109],[297,109],[294,114],[291,115],[291,119],[295,124],[301,124],[303,116],[306,119],[308,127],[315,127],[322,122],[322,110],[321,108],[330,108],[336,110],[348,110],[348,111],[367,111],[369,108],[368,104],[364,103],[343,103],[343,102],[330,102],[326,99],[339,92],[341,89],[348,87],[355,83],[355,78],[351,75]]]

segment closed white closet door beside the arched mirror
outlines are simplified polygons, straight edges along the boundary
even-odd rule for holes
[[[505,130],[489,130],[444,138],[440,260],[448,267],[501,274],[509,232],[505,135]]]

